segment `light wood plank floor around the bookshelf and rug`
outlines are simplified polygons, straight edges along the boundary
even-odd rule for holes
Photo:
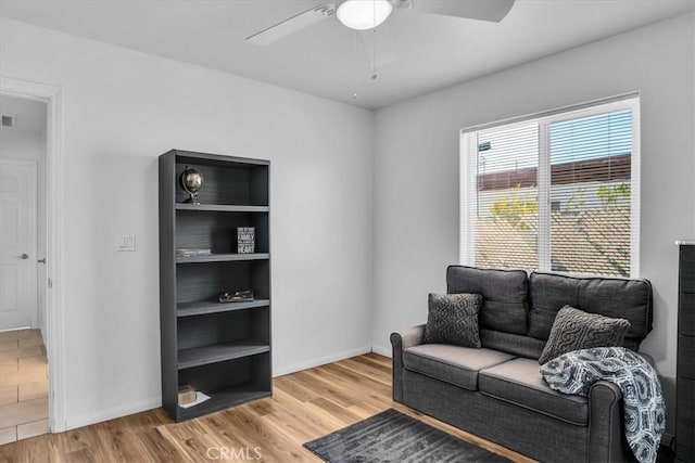
[[[0,447],[0,461],[320,462],[304,442],[389,408],[514,461],[531,461],[394,403],[391,360],[374,353],[277,377],[273,398],[178,424],[162,409],[151,410],[8,443]]]

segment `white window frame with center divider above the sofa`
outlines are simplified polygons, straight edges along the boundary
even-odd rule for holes
[[[471,210],[472,200],[477,192],[478,172],[478,141],[477,133],[481,130],[495,127],[514,127],[538,123],[539,125],[539,268],[540,271],[551,271],[551,163],[549,163],[549,126],[569,119],[595,116],[605,113],[630,110],[632,112],[632,152],[630,177],[630,276],[640,275],[640,95],[629,93],[610,99],[589,102],[581,105],[553,110],[540,114],[533,114],[514,119],[501,120],[463,129],[459,144],[459,258],[466,266],[476,265],[476,211]],[[534,269],[535,270],[535,269]]]

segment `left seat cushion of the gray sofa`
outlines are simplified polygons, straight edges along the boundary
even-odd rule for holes
[[[403,351],[403,365],[410,371],[478,390],[480,370],[514,359],[510,353],[447,344],[422,344]],[[536,364],[538,371],[538,364]]]

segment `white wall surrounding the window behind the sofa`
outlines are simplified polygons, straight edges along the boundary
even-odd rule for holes
[[[680,16],[377,112],[377,350],[390,350],[391,332],[426,321],[428,292],[445,292],[446,266],[458,261],[459,129],[639,90],[640,263],[655,291],[654,331],[643,350],[672,396],[673,241],[695,237],[694,29],[695,15]]]

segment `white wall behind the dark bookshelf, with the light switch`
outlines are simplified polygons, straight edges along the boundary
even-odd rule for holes
[[[271,160],[275,373],[368,351],[374,116],[1,20],[3,76],[64,89],[66,425],[160,403],[157,155]],[[137,250],[116,253],[117,233]]]

